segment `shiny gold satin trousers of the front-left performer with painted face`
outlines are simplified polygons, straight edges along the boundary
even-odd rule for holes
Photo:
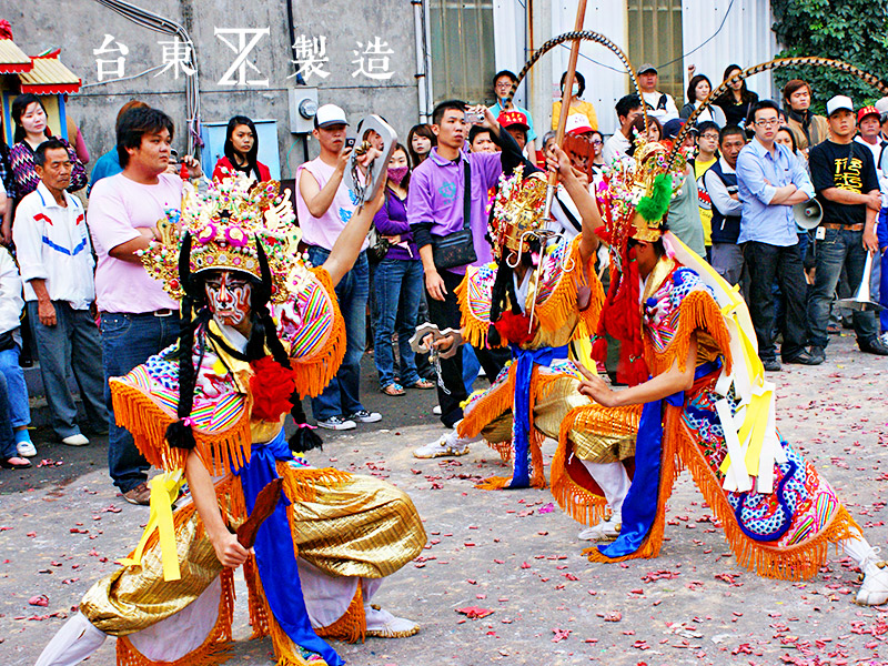
[[[379,578],[394,573],[416,557],[426,542],[413,502],[396,487],[369,476],[335,471],[335,481],[323,470],[278,464],[284,488],[293,502],[287,507],[293,544],[303,557],[331,576]],[[302,478],[301,478],[302,477]],[[293,496],[292,487],[311,487],[309,498]],[[223,518],[235,528],[243,521],[243,493],[239,480],[216,484]],[[193,504],[174,514],[175,542],[182,577],[163,579],[160,546],[149,544],[141,566],[127,566],[95,583],[80,610],[100,630],[125,636],[148,628],[182,610],[222,573],[210,539]]]

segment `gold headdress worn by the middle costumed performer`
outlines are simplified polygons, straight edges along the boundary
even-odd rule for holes
[[[546,222],[543,219],[545,203],[545,175],[533,173],[525,179],[521,165],[512,175],[503,173],[500,176],[500,191],[488,228],[495,261],[506,252],[521,254],[529,251],[533,232],[543,229]]]

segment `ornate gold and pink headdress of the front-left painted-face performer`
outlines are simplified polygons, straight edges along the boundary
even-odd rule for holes
[[[251,186],[252,185],[252,186]],[[302,232],[295,225],[290,192],[280,195],[280,183],[254,184],[245,179],[212,182],[204,193],[186,184],[182,210],[168,210],[158,222],[159,241],[140,252],[148,274],[159,280],[176,301],[182,299],[179,253],[191,234],[192,274],[211,270],[240,271],[262,280],[256,243],[261,243],[271,270],[271,301],[291,297],[299,274]],[[300,270],[300,269],[303,270]]]

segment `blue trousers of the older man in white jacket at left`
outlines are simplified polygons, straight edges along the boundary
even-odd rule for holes
[[[99,329],[89,310],[74,310],[67,301],[53,301],[52,304],[57,323],[44,326],[38,316],[37,301],[28,301],[28,319],[40,359],[40,375],[52,414],[52,430],[62,440],[80,433],[77,405],[68,386],[68,375],[73,373],[88,422],[93,430],[104,431],[108,423],[104,383],[102,371],[95,363],[102,353]]]

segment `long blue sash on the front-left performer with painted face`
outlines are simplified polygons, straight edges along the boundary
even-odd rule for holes
[[[259,492],[278,478],[275,463],[292,457],[283,428],[268,444],[253,444],[250,463],[236,472],[241,477],[249,512],[252,513]],[[305,609],[293,551],[293,534],[286,519],[289,504],[290,501],[282,495],[274,513],[262,523],[256,534],[256,568],[265,591],[265,599],[274,619],[293,643],[320,654],[330,666],[342,666],[345,662],[312,629],[309,612]]]

